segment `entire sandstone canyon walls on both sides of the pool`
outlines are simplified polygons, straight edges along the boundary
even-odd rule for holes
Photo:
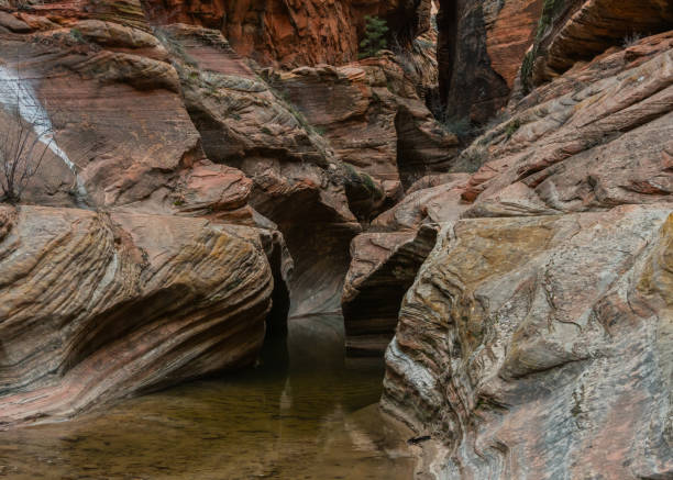
[[[435,3],[0,0],[2,426],[342,309],[419,478],[670,478],[672,3]]]

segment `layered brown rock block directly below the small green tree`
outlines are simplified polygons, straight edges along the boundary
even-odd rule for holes
[[[409,57],[411,66],[412,57]],[[272,78],[276,89],[323,132],[345,163],[383,182],[387,197],[423,174],[445,170],[457,141],[418,96],[398,58],[385,55],[343,67],[302,67]],[[410,68],[410,67],[409,67]]]

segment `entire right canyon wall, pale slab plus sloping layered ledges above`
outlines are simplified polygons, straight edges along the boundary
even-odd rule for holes
[[[387,232],[372,235],[394,247],[354,255],[344,300],[376,304],[379,272],[400,263],[413,232],[438,232],[400,299],[382,400],[431,438],[420,478],[673,475],[673,33],[622,44],[616,21],[594,45],[598,23],[586,19],[606,19],[607,7],[631,12],[633,27],[638,15],[653,31],[672,26],[627,3],[554,16],[544,38],[582,59],[511,94],[505,120],[456,160],[482,165],[475,174],[423,179],[413,209],[405,199],[380,215]],[[584,51],[564,44],[570,32]],[[530,52],[534,71],[549,72],[562,51]],[[438,198],[438,183],[443,213],[412,202]],[[398,295],[383,287],[378,300]]]

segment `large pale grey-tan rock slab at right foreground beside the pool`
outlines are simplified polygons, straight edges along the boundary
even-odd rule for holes
[[[441,478],[673,475],[670,206],[448,224],[407,293],[383,406]]]

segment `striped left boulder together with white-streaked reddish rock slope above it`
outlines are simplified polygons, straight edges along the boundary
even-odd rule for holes
[[[265,321],[285,326],[291,263],[249,204],[253,180],[206,158],[140,3],[7,15],[0,125],[55,133],[23,200],[111,213],[3,210],[2,422],[68,417],[252,364]]]

